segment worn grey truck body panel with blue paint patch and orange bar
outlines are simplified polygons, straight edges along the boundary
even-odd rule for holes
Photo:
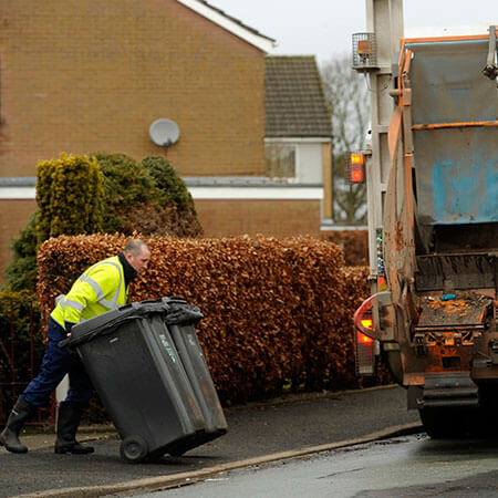
[[[419,222],[498,221],[497,129],[473,125],[496,120],[496,82],[483,75],[487,40],[411,43],[405,49],[413,53]],[[448,126],[455,123],[461,126]]]

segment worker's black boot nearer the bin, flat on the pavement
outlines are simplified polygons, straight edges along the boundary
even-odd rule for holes
[[[84,406],[84,404],[75,402],[62,402],[60,404],[55,453],[84,455],[94,452],[92,446],[83,446],[76,440],[76,430]]]

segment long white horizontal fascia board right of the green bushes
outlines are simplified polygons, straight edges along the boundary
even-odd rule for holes
[[[194,200],[322,200],[321,187],[189,187]]]

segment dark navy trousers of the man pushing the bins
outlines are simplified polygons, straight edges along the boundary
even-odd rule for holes
[[[65,401],[86,403],[93,396],[93,386],[75,352],[60,347],[66,339],[65,330],[54,320],[49,321],[49,343],[43,354],[41,372],[33,378],[21,396],[31,405],[46,406],[50,395],[69,374],[70,388]]]

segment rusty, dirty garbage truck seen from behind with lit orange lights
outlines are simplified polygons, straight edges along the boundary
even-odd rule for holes
[[[402,0],[366,0],[353,34],[372,126],[365,181],[372,294],[354,314],[356,371],[382,361],[432,437],[497,426],[497,27],[405,37]]]

